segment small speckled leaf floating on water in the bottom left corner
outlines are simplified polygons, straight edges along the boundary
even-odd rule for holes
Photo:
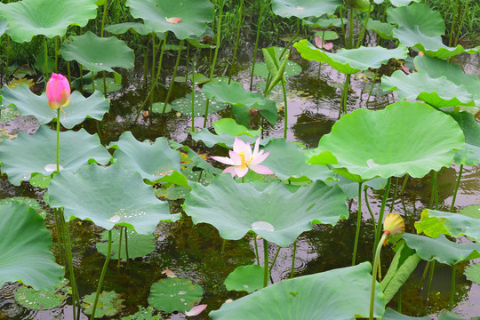
[[[63,278],[60,285],[46,292],[34,290],[22,285],[15,292],[15,300],[20,306],[33,310],[57,308],[67,298],[67,293],[71,293],[71,288],[68,287],[67,284],[68,280]]]

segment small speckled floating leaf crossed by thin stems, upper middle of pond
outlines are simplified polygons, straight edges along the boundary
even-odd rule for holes
[[[204,116],[206,108],[206,97],[204,92],[195,92],[194,115]],[[160,113],[164,110],[164,103],[162,102]],[[210,100],[208,104],[208,115],[227,108],[227,104],[220,101]],[[188,93],[186,96],[172,101],[172,109],[180,112],[184,116],[192,116],[192,94]]]

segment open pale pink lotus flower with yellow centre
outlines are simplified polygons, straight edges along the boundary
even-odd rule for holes
[[[212,159],[222,164],[231,165],[222,173],[229,172],[232,174],[232,177],[237,175],[238,178],[242,178],[247,174],[248,169],[252,169],[254,172],[260,174],[274,174],[274,172],[268,169],[265,165],[260,165],[270,153],[267,152],[266,154],[263,154],[263,150],[259,152],[259,145],[260,138],[255,142],[255,148],[252,153],[250,142],[245,143],[244,141],[235,138],[234,149],[229,152],[230,157],[212,156]]]

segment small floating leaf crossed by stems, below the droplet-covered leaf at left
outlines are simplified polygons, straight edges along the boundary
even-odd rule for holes
[[[122,250],[120,252],[120,260],[126,260],[127,254],[125,249],[125,234],[122,230]],[[101,242],[97,243],[97,250],[103,255],[108,252],[108,231],[101,233]],[[148,253],[155,250],[155,236],[154,235],[139,235],[133,230],[127,230],[128,242],[128,258],[135,259],[145,257]],[[120,242],[120,234],[118,230],[112,231],[112,247],[111,259],[118,259],[118,244]]]

